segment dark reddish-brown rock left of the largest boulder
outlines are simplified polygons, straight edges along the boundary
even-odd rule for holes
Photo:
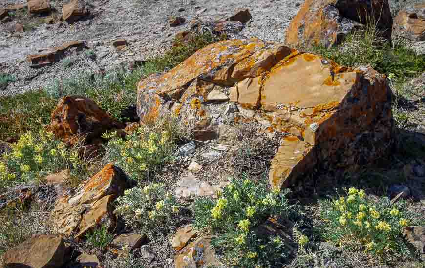
[[[77,143],[77,135],[84,135],[85,143],[91,144],[106,130],[125,127],[92,100],[82,96],[62,98],[52,112],[49,126],[56,137],[71,145]]]

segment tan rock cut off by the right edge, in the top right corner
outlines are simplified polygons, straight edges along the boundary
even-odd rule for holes
[[[425,4],[407,7],[394,20],[398,35],[412,41],[425,40]]]

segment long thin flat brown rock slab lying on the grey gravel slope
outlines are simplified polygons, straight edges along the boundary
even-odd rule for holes
[[[48,48],[43,54],[28,55],[26,62],[30,63],[30,67],[40,67],[54,62],[60,61],[64,54],[71,48],[81,49],[85,47],[84,41],[70,41],[58,47]]]

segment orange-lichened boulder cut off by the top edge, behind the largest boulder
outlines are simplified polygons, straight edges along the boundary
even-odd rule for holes
[[[372,18],[375,21],[368,21]],[[325,47],[339,43],[361,24],[374,23],[391,38],[388,0],[306,0],[286,32],[289,45]]]

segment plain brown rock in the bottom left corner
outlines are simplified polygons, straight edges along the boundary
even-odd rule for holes
[[[61,268],[65,243],[60,236],[33,235],[30,239],[4,253],[5,268]]]

